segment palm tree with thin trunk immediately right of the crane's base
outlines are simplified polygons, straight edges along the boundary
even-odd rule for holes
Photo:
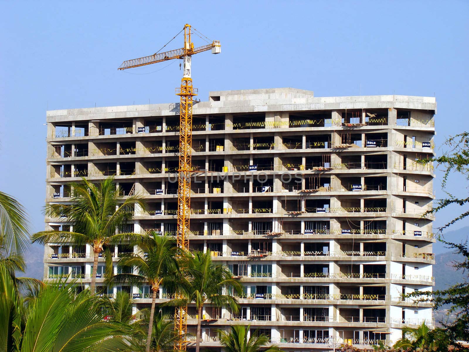
[[[210,303],[214,306],[230,306],[234,313],[239,309],[236,298],[223,294],[223,290],[242,293],[242,286],[233,278],[230,270],[223,265],[216,265],[210,253],[193,252],[189,258],[187,274],[182,283],[182,294],[187,302],[194,302],[197,309],[196,352],[200,350],[200,325],[202,308]]]

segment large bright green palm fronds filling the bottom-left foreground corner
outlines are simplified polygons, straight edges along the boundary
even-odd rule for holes
[[[138,351],[142,335],[128,325],[103,321],[96,313],[98,297],[74,283],[40,288],[24,306],[8,270],[0,265],[0,351]]]

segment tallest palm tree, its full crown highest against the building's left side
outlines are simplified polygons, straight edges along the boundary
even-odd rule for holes
[[[65,217],[73,231],[41,231],[32,235],[32,242],[73,242],[76,245],[91,245],[94,253],[91,275],[91,294],[95,294],[96,273],[99,254],[103,246],[129,241],[138,243],[146,235],[136,233],[117,233],[133,218],[134,207],[144,208],[144,203],[136,196],[121,202],[113,177],[104,179],[100,184],[92,184],[83,177],[83,183],[73,184],[73,197],[70,205],[48,204],[45,214],[50,217]],[[106,262],[110,264],[110,252],[104,251]],[[109,270],[108,270],[109,271]]]

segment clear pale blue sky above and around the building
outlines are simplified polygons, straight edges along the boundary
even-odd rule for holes
[[[435,95],[437,147],[468,130],[466,0],[0,5],[0,189],[23,202],[36,231],[44,228],[46,110],[178,101],[178,60],[117,68],[157,52],[185,23],[222,45],[222,54],[193,58],[202,100],[212,90],[272,87],[315,96]],[[167,49],[181,46],[178,37]]]

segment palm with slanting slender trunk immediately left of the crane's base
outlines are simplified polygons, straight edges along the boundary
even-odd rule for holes
[[[151,287],[151,310],[148,322],[148,336],[146,352],[150,351],[153,317],[155,314],[156,296],[159,287],[166,282],[174,281],[178,273],[176,255],[179,250],[174,237],[163,235],[149,237],[145,243],[140,244],[144,257],[138,254],[121,257],[120,268],[134,268],[135,274],[118,274],[113,276],[112,282],[127,282],[133,284],[149,283]]]

